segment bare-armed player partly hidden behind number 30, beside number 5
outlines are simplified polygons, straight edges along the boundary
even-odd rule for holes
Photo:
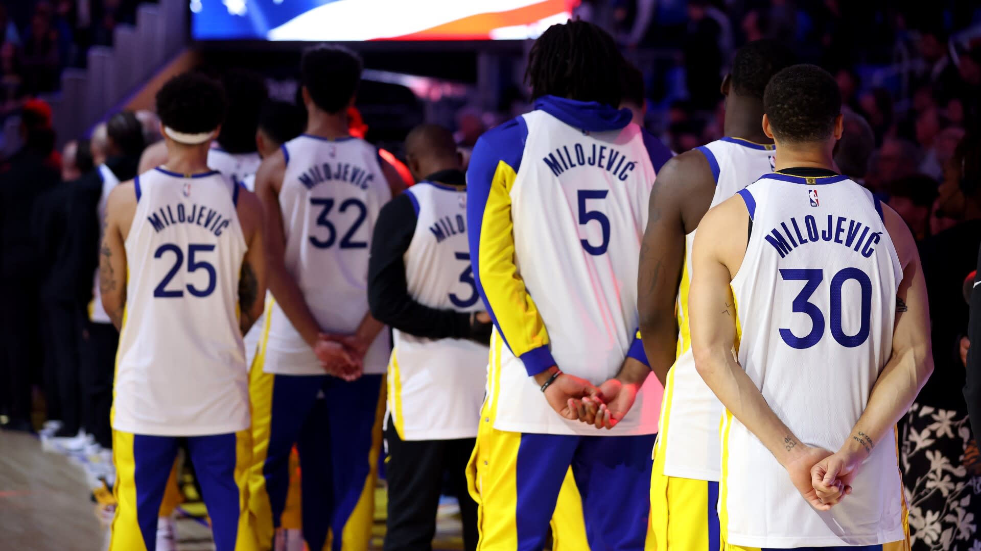
[[[668,161],[650,193],[638,308],[650,368],[665,385],[650,482],[658,549],[718,549],[722,405],[698,376],[692,357],[692,243],[709,208],[773,171],[773,140],[759,124],[763,89],[770,76],[792,64],[788,49],[772,40],[740,48],[722,82],[726,137]]]

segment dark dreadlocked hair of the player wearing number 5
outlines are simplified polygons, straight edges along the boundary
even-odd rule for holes
[[[570,20],[549,26],[535,41],[525,81],[532,86],[532,99],[553,95],[617,107],[624,94],[625,64],[608,32]]]

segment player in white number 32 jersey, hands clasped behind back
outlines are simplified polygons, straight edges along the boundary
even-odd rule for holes
[[[323,548],[329,530],[337,550],[364,549],[371,537],[389,339],[368,311],[368,257],[378,213],[400,184],[377,149],[348,132],[360,76],[348,50],[307,51],[306,133],[256,175],[274,299],[252,368],[250,508],[265,545],[281,526],[294,443],[307,545]],[[255,384],[255,370],[273,382]]]

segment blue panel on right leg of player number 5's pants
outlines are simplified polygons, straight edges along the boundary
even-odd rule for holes
[[[655,434],[583,436],[572,474],[583,498],[586,535],[593,549],[643,551],[650,511],[648,485]]]

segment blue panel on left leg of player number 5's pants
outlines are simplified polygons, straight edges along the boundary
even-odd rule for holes
[[[537,551],[544,546],[548,521],[579,440],[579,436],[567,434],[521,435],[514,474],[518,490],[517,510],[513,513],[518,551]]]

